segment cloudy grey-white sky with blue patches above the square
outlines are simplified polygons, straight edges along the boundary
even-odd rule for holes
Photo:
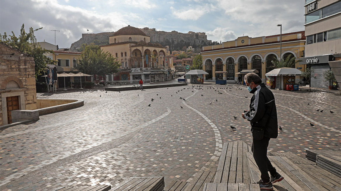
[[[229,41],[304,30],[304,0],[0,0],[0,33],[16,36],[22,24],[43,28],[37,41],[70,48],[82,33],[131,25],[180,33],[205,32]],[[55,31],[58,30],[55,35]],[[89,31],[87,31],[89,30]]]

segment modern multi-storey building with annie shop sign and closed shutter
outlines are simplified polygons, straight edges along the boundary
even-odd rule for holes
[[[313,69],[311,87],[326,88],[323,73],[332,69],[341,82],[341,1],[305,1],[305,57],[300,64]]]

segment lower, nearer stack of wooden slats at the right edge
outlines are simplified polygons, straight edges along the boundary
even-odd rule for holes
[[[316,156],[317,166],[341,177],[341,156]]]

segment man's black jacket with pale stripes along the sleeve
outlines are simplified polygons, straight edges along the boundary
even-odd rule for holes
[[[250,111],[245,112],[244,117],[250,121],[251,128],[263,128],[264,137],[277,138],[277,110],[273,93],[264,83],[253,88],[250,93],[253,93]]]

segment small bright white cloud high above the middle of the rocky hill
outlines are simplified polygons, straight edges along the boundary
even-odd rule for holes
[[[197,6],[195,8],[181,9],[181,10],[178,10],[178,9],[174,8],[173,6],[171,6],[170,10],[172,11],[172,14],[178,19],[197,20],[201,16],[203,16],[204,14],[210,12],[211,5],[205,4],[203,6]]]

